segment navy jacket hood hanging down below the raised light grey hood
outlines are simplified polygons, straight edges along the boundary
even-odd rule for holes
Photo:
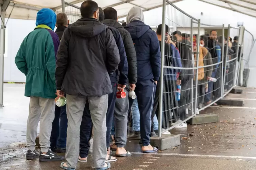
[[[140,38],[147,30],[151,29],[149,25],[144,24],[142,21],[132,21],[125,26],[125,29],[129,31],[132,36],[132,39]]]

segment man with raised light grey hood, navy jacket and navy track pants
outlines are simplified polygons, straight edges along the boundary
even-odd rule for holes
[[[139,7],[132,7],[126,17],[124,27],[132,36],[137,55],[138,79],[135,93],[140,111],[140,136],[142,152],[156,152],[150,142],[151,112],[157,81],[160,77],[161,56],[159,41],[155,31],[144,24],[144,15]]]

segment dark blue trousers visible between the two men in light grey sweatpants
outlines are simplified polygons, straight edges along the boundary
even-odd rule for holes
[[[67,107],[55,106],[55,117],[52,122],[52,132],[50,137],[51,148],[66,148],[67,143],[67,129],[68,129],[68,119],[67,119]]]

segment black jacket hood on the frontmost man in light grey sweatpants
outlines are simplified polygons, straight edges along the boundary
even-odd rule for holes
[[[68,28],[81,37],[95,37],[107,29],[107,26],[94,18],[81,18],[70,24]]]

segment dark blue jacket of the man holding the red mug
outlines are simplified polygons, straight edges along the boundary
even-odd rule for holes
[[[115,38],[117,47],[119,49],[119,55],[120,55],[120,63],[118,64],[118,70],[116,70],[111,76],[110,76],[110,81],[113,83],[117,83],[117,76],[118,76],[118,71],[120,72],[119,76],[119,84],[126,85],[128,78],[128,63],[127,63],[127,58],[126,58],[126,53],[125,53],[125,48],[123,45],[123,40],[121,38],[121,35],[118,31],[118,29],[114,27],[108,26],[108,29],[111,30],[113,33],[113,36]]]

